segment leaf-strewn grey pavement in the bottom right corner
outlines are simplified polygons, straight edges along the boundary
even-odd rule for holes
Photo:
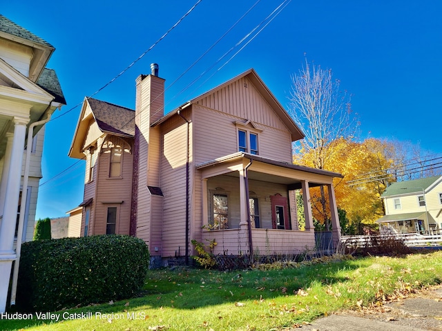
[[[336,312],[292,331],[442,330],[442,285],[419,291],[380,308]]]

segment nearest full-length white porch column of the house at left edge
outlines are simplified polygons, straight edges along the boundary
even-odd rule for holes
[[[3,221],[0,227],[0,313],[6,310],[6,297],[8,297],[12,261],[16,257],[13,250],[14,234],[15,223],[17,223],[17,207],[19,205],[21,163],[23,161],[23,148],[28,121],[29,119],[14,119],[14,139],[12,140]]]

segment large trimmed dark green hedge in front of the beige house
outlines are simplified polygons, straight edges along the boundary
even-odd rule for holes
[[[17,308],[47,312],[131,297],[144,285],[148,264],[148,247],[135,237],[23,243]]]

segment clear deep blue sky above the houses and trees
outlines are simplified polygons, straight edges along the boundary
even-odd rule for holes
[[[2,1],[1,14],[55,46],[48,68],[56,70],[68,102],[54,114],[64,116],[46,125],[37,219],[63,217],[82,201],[84,161],[67,156],[80,111],[75,106],[148,50],[196,1]],[[222,54],[282,3],[261,0],[178,79],[256,2],[202,0],[94,97],[134,108],[135,78],[158,63],[166,79],[166,112],[249,68],[286,106],[291,74],[300,70],[306,54],[332,69],[353,94],[361,139],[411,141],[442,154],[442,1],[290,1],[220,68],[244,43],[218,61]]]

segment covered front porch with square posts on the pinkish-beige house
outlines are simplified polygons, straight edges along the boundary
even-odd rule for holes
[[[313,250],[309,188],[318,185],[327,187],[335,247],[339,242],[332,181],[340,174],[244,152],[196,169],[202,179],[201,239],[217,243],[213,254],[291,256]]]

